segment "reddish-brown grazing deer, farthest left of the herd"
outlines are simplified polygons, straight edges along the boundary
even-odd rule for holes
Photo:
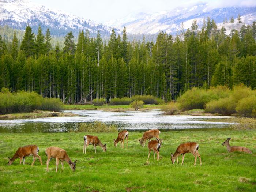
[[[29,155],[32,155],[33,159],[34,159],[31,166],[33,166],[34,163],[35,163],[35,157],[37,157],[40,160],[41,165],[43,165],[42,159],[38,155],[38,151],[39,151],[39,147],[37,147],[36,145],[27,145],[27,146],[24,146],[24,147],[19,147],[12,158],[8,157],[9,158],[8,165],[11,165],[12,162],[14,162],[14,160],[17,159],[17,158],[20,158],[19,164],[21,164],[21,162],[23,160],[23,165],[25,165],[25,157],[29,156]]]

